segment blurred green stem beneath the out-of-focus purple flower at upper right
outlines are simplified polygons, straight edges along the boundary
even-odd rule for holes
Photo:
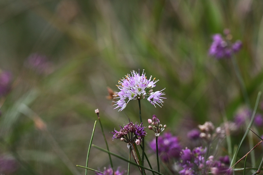
[[[245,87],[245,83],[244,83],[244,80],[242,78],[242,75],[241,75],[241,72],[240,72],[240,69],[238,68],[238,64],[236,62],[236,58],[234,57],[234,55],[231,57],[231,61],[232,61],[232,64],[234,66],[234,69],[235,69],[235,72],[236,72],[236,76],[238,78],[238,82],[240,84],[240,88],[241,88],[241,91],[242,91],[242,94],[243,94],[243,97],[245,99],[245,103],[248,105],[248,107],[250,108],[250,102],[249,102],[249,98],[248,98],[248,92],[246,91],[246,87]]]

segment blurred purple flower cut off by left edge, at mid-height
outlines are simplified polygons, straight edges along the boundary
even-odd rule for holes
[[[12,74],[8,71],[0,73],[0,97],[8,93],[11,87]]]

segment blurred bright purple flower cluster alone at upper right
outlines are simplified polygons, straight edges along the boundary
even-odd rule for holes
[[[209,49],[209,55],[214,56],[217,59],[229,58],[233,53],[237,53],[242,48],[242,42],[236,41],[231,44],[232,38],[230,31],[225,33],[226,38],[223,38],[221,34],[213,35],[213,42]]]

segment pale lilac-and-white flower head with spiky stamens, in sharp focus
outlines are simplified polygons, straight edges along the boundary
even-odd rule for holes
[[[162,106],[162,103],[164,102],[162,99],[165,98],[161,96],[165,95],[165,93],[162,92],[165,89],[156,92],[153,92],[152,90],[152,88],[155,87],[155,83],[158,81],[159,80],[155,80],[155,78],[152,80],[152,76],[150,76],[148,80],[145,76],[144,70],[141,75],[140,70],[139,73],[136,71],[131,71],[131,75],[127,74],[125,78],[122,78],[120,81],[118,81],[119,85],[116,85],[120,89],[120,92],[116,92],[115,98],[119,98],[115,104],[117,105],[116,108],[120,107],[119,111],[122,111],[127,106],[129,101],[137,99],[140,100],[144,98],[147,98],[147,100],[154,106],[155,104]]]

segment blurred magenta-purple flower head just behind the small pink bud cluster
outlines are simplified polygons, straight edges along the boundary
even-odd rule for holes
[[[156,152],[156,140],[150,142],[150,148]],[[158,137],[158,154],[160,158],[168,162],[170,159],[178,159],[180,157],[181,146],[176,136],[171,133],[165,133]]]

